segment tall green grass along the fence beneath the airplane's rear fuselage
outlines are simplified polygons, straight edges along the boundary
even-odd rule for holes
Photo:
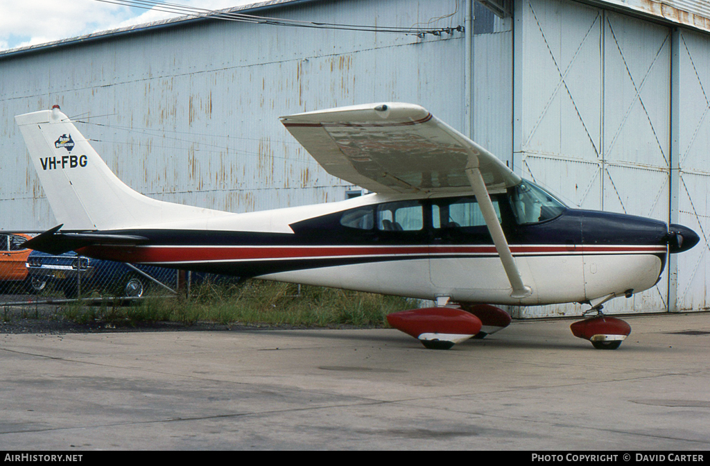
[[[243,283],[202,283],[190,296],[153,296],[120,306],[73,305],[64,317],[78,323],[102,322],[114,326],[142,323],[197,322],[223,325],[297,327],[383,327],[386,315],[417,307],[417,300],[345,291],[319,286],[248,280]]]

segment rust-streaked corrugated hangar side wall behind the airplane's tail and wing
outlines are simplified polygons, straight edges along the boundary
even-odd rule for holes
[[[459,1],[285,2],[271,16],[458,26]],[[139,33],[138,33],[139,32]],[[131,188],[246,212],[342,200],[278,116],[376,101],[422,104],[461,129],[463,33],[442,36],[186,21],[0,57],[0,226],[53,227],[15,114],[60,104]]]

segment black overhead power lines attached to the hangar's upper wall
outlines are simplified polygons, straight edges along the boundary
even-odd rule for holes
[[[453,34],[454,31],[463,32],[463,26],[448,28],[400,28],[388,26],[368,26],[357,24],[322,23],[315,21],[297,21],[293,19],[273,18],[269,16],[256,16],[244,13],[236,13],[228,10],[207,10],[195,6],[171,4],[154,0],[96,0],[107,4],[121,6],[133,6],[145,10],[163,11],[193,18],[213,18],[223,21],[237,21],[241,23],[269,24],[271,26],[288,26],[292,28],[316,28],[316,29],[338,29],[341,31],[362,31],[374,33],[395,33],[424,37],[427,34],[441,36],[442,33]]]

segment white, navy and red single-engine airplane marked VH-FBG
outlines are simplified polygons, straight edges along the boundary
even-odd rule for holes
[[[602,304],[654,286],[666,255],[699,240],[676,224],[571,209],[413,104],[283,117],[328,173],[373,194],[243,214],[136,193],[56,105],[15,119],[60,222],[28,247],[435,300],[388,315],[430,348],[510,323],[484,303],[579,302],[596,317],[574,335],[616,349],[630,327]]]

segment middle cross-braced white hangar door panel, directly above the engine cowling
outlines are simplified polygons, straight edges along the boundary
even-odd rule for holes
[[[603,210],[668,222],[670,30],[618,13],[603,16]],[[605,310],[663,312],[667,284],[662,279]]]

